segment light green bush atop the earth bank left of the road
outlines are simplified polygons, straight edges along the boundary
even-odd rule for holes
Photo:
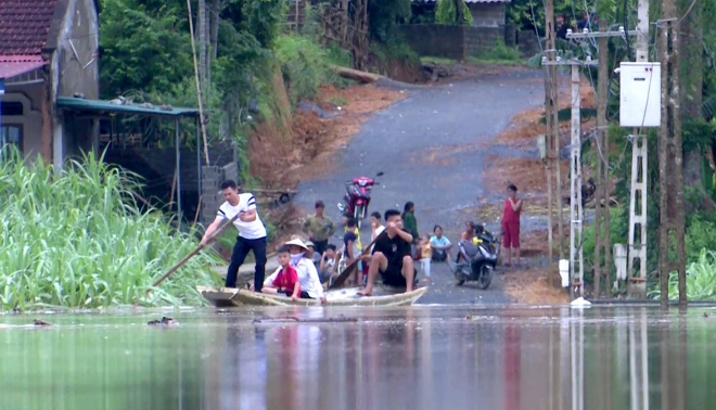
[[[311,99],[318,88],[328,82],[330,67],[325,51],[309,38],[279,36],[274,47],[281,65],[289,99],[295,106],[303,99]]]

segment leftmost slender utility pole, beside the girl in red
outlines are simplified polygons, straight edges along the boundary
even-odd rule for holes
[[[554,44],[554,0],[545,0],[545,59],[547,62],[555,63],[557,62],[557,47]],[[546,76],[545,76],[545,124],[546,124],[546,134],[545,134],[545,145],[547,148],[547,166],[545,167],[547,174],[547,243],[548,243],[548,257],[549,264],[552,266],[554,264],[554,200],[561,200],[559,196],[554,195],[554,188],[552,187],[552,174],[557,171],[559,175],[559,118],[558,118],[558,77],[557,77],[557,65],[546,65]],[[558,146],[557,150],[554,146]],[[557,169],[555,169],[557,166]],[[555,197],[557,196],[557,197]],[[561,209],[560,205],[560,209]],[[561,210],[560,210],[561,215]],[[560,221],[560,229],[562,228],[562,222]],[[560,232],[560,258],[562,258],[562,232]],[[548,282],[550,285],[553,283],[553,269],[549,269]]]

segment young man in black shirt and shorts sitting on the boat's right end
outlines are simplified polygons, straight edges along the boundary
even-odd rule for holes
[[[415,270],[412,266],[410,244],[412,235],[402,229],[400,212],[388,209],[385,212],[385,230],[375,240],[375,246],[370,259],[368,270],[368,283],[359,295],[371,296],[373,282],[381,273],[383,283],[388,286],[406,287],[406,292],[412,292],[412,282]]]

